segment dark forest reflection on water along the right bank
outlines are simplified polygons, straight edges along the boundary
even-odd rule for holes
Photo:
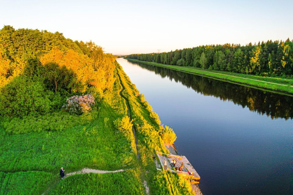
[[[250,111],[257,112],[260,115],[270,116],[271,119],[284,118],[287,120],[293,118],[293,97],[291,96],[222,82],[141,62],[128,62],[134,66],[138,64],[143,69],[153,71],[162,78],[168,77],[170,80],[180,82],[189,88],[191,87],[197,93],[214,96],[222,101],[232,101],[234,104],[241,105],[243,108],[248,107]]]

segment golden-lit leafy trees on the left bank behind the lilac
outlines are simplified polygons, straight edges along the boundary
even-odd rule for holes
[[[61,108],[71,95],[96,99],[114,83],[115,58],[92,41],[62,33],[0,30],[0,115],[24,116]]]

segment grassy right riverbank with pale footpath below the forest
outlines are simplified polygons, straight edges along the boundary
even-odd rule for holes
[[[240,73],[230,73],[230,72],[223,72],[223,71],[216,71],[216,70],[208,70],[191,66],[174,66],[174,65],[166,65],[160,64],[156,62],[146,62],[136,59],[128,59],[129,61],[133,62],[141,62],[150,64],[153,66],[160,66],[168,69],[173,69],[185,73],[191,73],[206,77],[215,78],[222,81],[228,81],[237,84],[244,84],[248,86],[253,86],[257,88],[266,89],[273,92],[281,92],[288,95],[293,95],[293,79],[286,79],[280,77],[262,77],[262,76],[255,76],[255,75],[245,75]]]

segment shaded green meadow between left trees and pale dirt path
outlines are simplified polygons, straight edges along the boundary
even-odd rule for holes
[[[131,166],[135,155],[130,143],[112,127],[115,112],[105,102],[100,106],[94,122],[61,132],[16,135],[1,130],[0,171],[58,172],[63,166],[69,172],[84,167],[116,170]]]

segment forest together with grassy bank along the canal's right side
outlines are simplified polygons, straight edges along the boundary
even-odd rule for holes
[[[289,38],[285,41],[268,40],[246,45],[200,45],[125,57],[155,66],[293,94],[293,40]]]

